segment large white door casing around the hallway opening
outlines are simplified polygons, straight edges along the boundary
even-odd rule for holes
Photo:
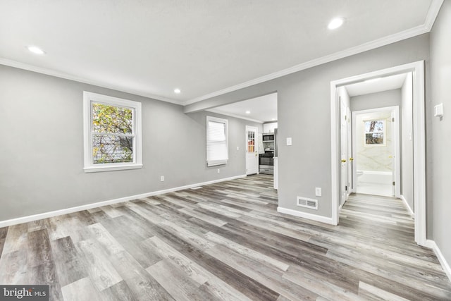
[[[414,139],[414,216],[415,242],[426,247],[426,143],[424,116],[424,61],[377,70],[362,75],[330,82],[330,135],[331,135],[331,205],[332,223],[338,225],[340,200],[340,102],[337,87],[381,76],[412,72],[413,78],[413,139]]]

